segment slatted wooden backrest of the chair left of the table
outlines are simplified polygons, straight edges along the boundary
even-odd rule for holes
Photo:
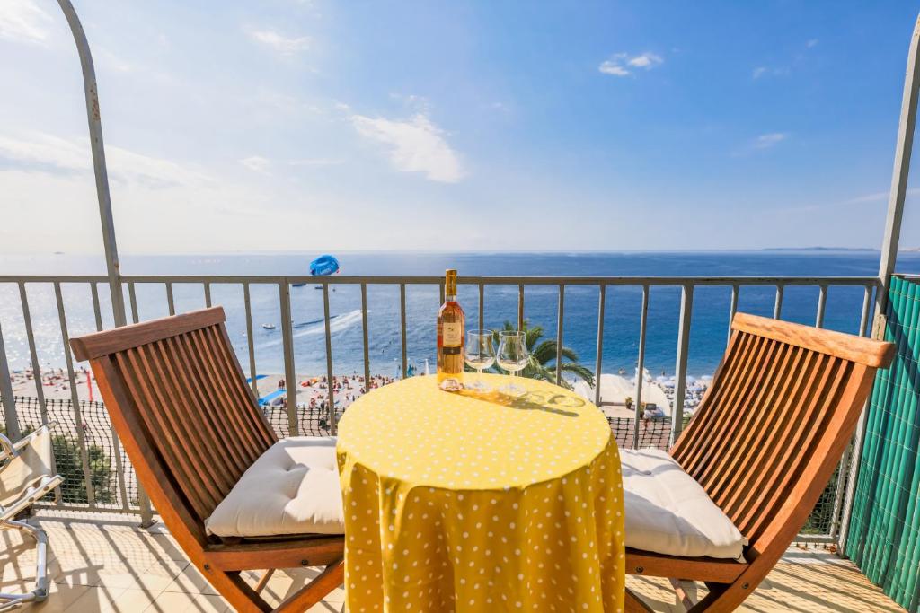
[[[204,520],[277,441],[224,321],[213,307],[71,340],[157,510],[200,543]]]

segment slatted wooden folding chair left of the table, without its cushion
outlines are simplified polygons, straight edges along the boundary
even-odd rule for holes
[[[179,546],[237,611],[269,611],[240,572],[325,566],[277,611],[304,611],[342,583],[344,537],[221,540],[204,520],[277,441],[247,386],[220,307],[71,340],[88,359],[137,477]]]

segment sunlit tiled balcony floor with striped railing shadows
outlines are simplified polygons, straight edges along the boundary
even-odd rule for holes
[[[51,596],[27,611],[97,611],[211,613],[232,610],[186,560],[162,524],[149,530],[132,517],[53,516],[38,521],[49,539]],[[31,589],[34,549],[17,531],[0,534],[4,553],[0,591]],[[266,587],[269,600],[279,601],[292,587],[316,571],[275,573]],[[258,577],[249,577],[254,584]],[[630,579],[630,586],[657,611],[677,611],[666,582]],[[700,589],[700,595],[703,593]],[[311,611],[342,608],[344,592],[336,590]],[[742,610],[747,611],[903,611],[849,562],[829,553],[790,550]]]

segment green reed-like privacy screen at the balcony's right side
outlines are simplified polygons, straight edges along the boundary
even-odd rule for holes
[[[920,284],[891,279],[885,339],[898,346],[868,407],[846,555],[909,611],[920,607]]]

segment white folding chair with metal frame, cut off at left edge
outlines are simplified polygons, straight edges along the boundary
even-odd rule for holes
[[[0,611],[48,597],[48,577],[45,576],[48,538],[41,528],[14,517],[63,482],[63,478],[54,473],[51,426],[53,424],[41,426],[16,443],[0,435],[0,453],[3,454],[0,460],[0,529],[22,530],[38,545],[35,589],[27,594],[0,593]]]

